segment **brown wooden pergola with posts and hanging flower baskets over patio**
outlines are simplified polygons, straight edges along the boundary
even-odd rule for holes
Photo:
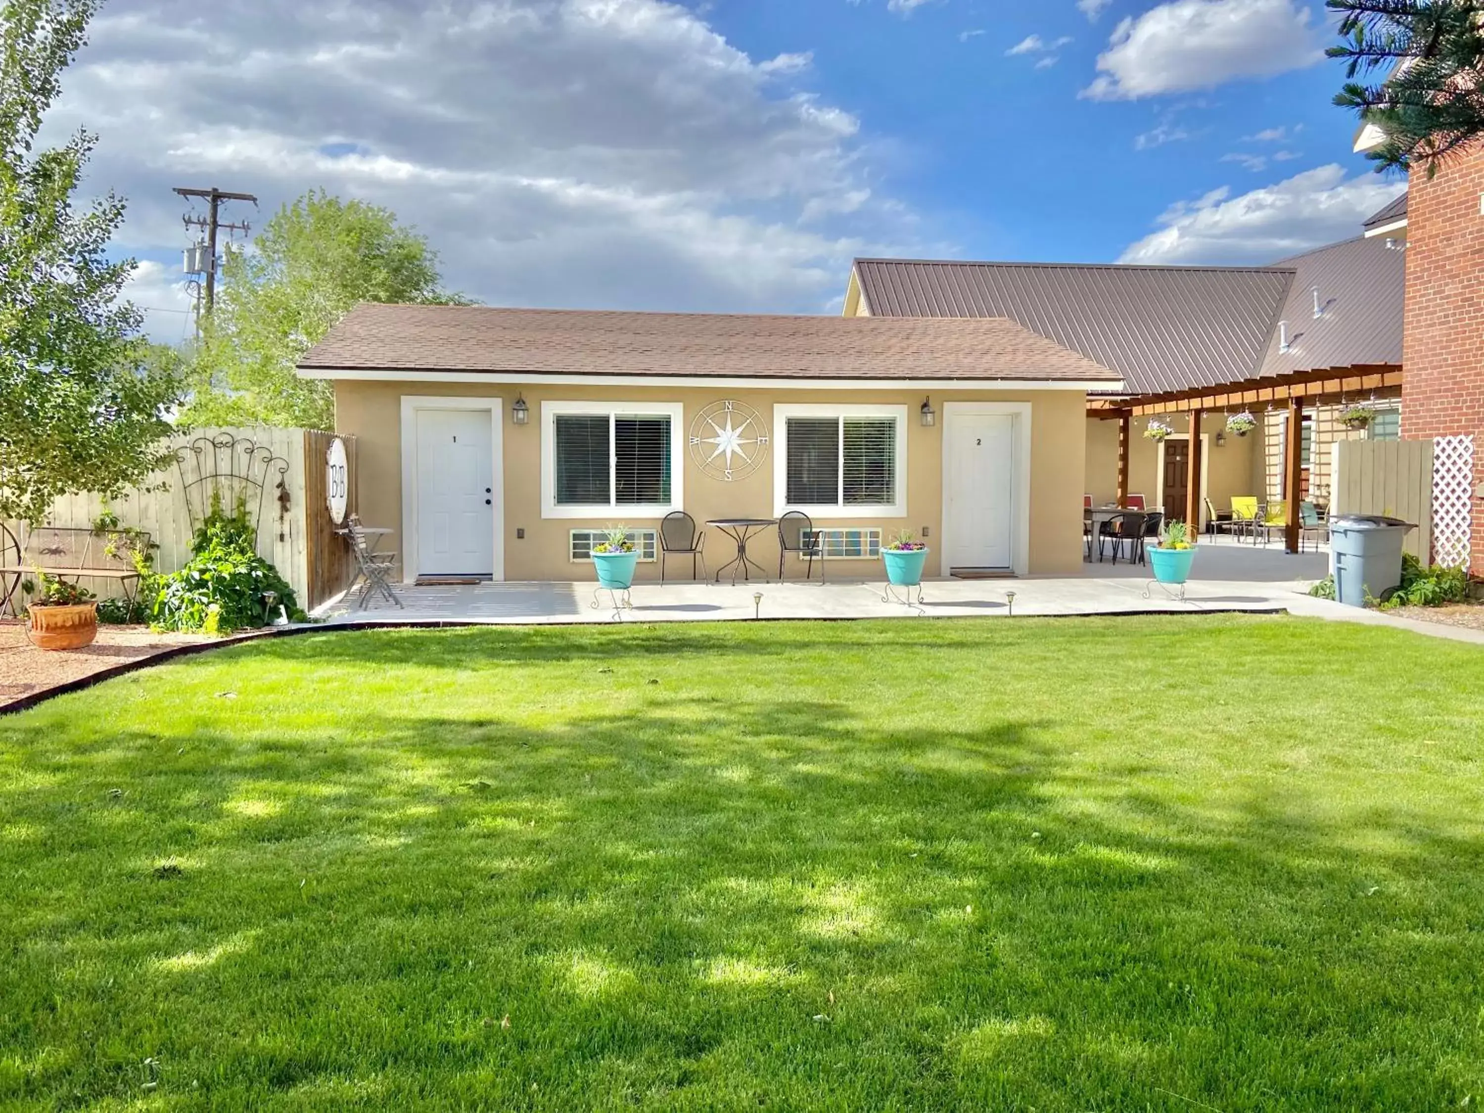
[[[1284,531],[1285,549],[1298,552],[1301,527],[1298,497],[1303,475],[1303,408],[1330,405],[1356,395],[1393,398],[1401,395],[1402,370],[1392,365],[1327,368],[1296,371],[1287,375],[1250,378],[1241,383],[1202,387],[1199,390],[1163,395],[1138,395],[1119,399],[1094,399],[1088,413],[1119,423],[1117,433],[1117,505],[1128,506],[1128,462],[1131,423],[1135,417],[1159,414],[1190,414],[1190,456],[1186,484],[1186,521],[1201,521],[1201,421],[1208,410],[1248,408],[1254,405],[1284,405],[1287,436],[1284,438],[1284,490],[1290,491],[1290,510]]]

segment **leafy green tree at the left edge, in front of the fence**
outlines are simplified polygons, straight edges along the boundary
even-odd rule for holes
[[[0,518],[39,521],[61,494],[142,481],[166,460],[180,398],[122,298],[134,261],[108,257],[123,200],[74,202],[95,138],[36,150],[98,4],[0,3]]]

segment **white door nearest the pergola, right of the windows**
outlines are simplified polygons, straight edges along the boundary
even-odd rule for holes
[[[944,531],[948,568],[1015,562],[1015,417],[950,414]]]

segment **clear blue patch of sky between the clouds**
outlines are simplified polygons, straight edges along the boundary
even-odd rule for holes
[[[812,50],[821,95],[881,144],[887,188],[969,258],[1113,261],[1178,202],[1330,165],[1350,177],[1370,169],[1350,150],[1353,117],[1331,104],[1342,70],[1328,59],[1138,99],[1083,95],[1119,22],[1159,6],[1113,0],[1097,19],[1073,0],[703,7],[751,53]],[[1291,10],[1309,15],[1313,43],[1334,40],[1322,4]],[[1055,49],[1008,53],[1031,36]],[[1365,184],[1401,188],[1395,178]],[[1257,252],[1181,261],[1270,261]]]

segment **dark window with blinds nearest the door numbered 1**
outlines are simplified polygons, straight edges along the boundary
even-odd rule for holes
[[[558,506],[666,506],[671,418],[556,414],[552,418]]]

